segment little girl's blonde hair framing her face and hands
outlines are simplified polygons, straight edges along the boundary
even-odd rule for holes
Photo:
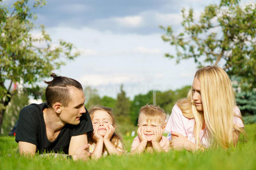
[[[105,112],[107,112],[110,115],[110,117],[112,118],[113,126],[115,126],[116,121],[115,121],[114,115],[112,113],[112,108],[107,108],[107,107],[102,107],[102,106],[95,106],[95,107],[91,108],[90,111],[89,111],[91,119],[93,119],[94,113],[96,111],[105,111]],[[93,135],[93,132],[88,134],[88,143],[90,143],[90,144],[92,144],[94,142],[93,138],[92,138],[92,135]],[[110,141],[113,143],[113,145],[115,147],[118,147],[118,142],[122,141],[122,137],[116,131],[114,131],[114,134],[112,135],[112,138],[110,139]],[[123,148],[121,148],[121,149],[123,150]]]

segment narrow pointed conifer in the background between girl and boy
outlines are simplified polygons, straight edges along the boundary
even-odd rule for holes
[[[119,123],[130,123],[130,99],[126,97],[123,90],[123,85],[120,87],[120,92],[117,94],[117,102],[115,103],[114,114]]]

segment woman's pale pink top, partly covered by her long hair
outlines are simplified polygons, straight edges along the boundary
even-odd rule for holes
[[[237,106],[234,107],[234,113],[236,113],[237,116],[241,117],[240,109]],[[241,118],[237,116],[233,117],[234,124],[236,124],[239,128],[245,127]],[[195,120],[193,118],[184,117],[180,108],[175,104],[172,108],[171,116],[167,121],[166,130],[169,133],[171,133],[171,131],[176,131],[177,133],[180,133],[187,137],[189,141],[196,143],[195,135],[193,133],[194,124]],[[209,138],[206,129],[207,128],[200,131],[199,138],[201,145],[203,145],[204,147],[209,147]],[[168,135],[167,138],[171,140],[171,135]]]

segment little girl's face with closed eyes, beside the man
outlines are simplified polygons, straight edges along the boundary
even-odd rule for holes
[[[98,128],[97,133],[104,137],[107,132],[106,127],[113,125],[113,120],[108,112],[98,110],[93,113],[92,124],[94,129],[93,133],[95,134]]]

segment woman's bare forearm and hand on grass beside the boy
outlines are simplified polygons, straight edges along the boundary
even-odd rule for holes
[[[188,141],[187,137],[184,137],[182,134],[172,131],[172,140],[170,141],[170,146],[175,150],[186,149],[189,151],[196,150],[196,144]]]

